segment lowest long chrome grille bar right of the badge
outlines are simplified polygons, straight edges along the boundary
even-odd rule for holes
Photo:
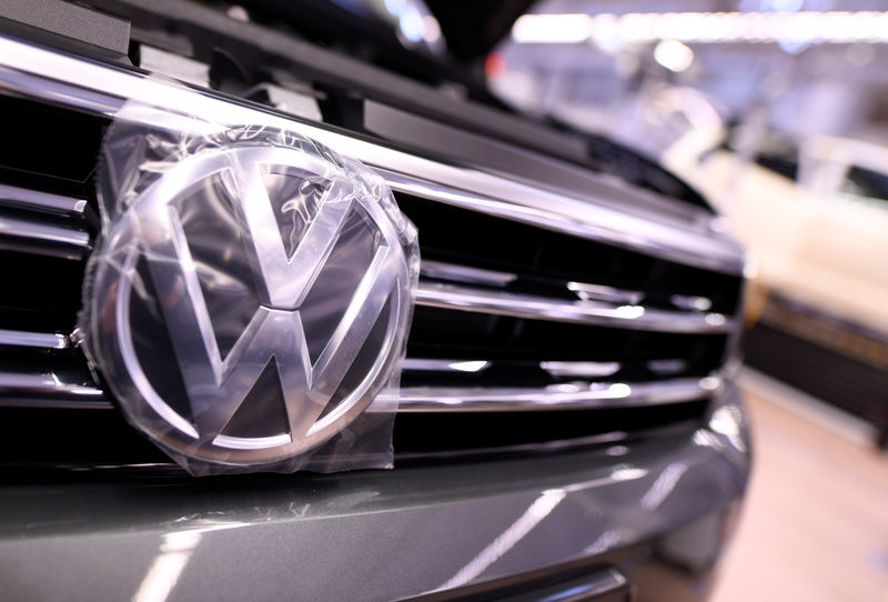
[[[629,384],[595,382],[541,389],[408,387],[400,392],[398,412],[522,412],[632,408],[698,401],[722,385],[719,377]]]

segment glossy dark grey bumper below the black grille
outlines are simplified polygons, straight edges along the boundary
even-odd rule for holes
[[[392,600],[606,563],[638,600],[686,600],[748,470],[729,391],[692,434],[543,459],[19,484],[0,491],[0,583],[14,600]]]

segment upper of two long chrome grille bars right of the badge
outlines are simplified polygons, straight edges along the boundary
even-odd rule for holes
[[[656,332],[724,333],[734,328],[734,320],[720,313],[679,312],[594,301],[563,301],[430,282],[420,282],[416,304]]]

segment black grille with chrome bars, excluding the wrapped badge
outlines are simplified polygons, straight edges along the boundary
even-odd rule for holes
[[[170,84],[0,46],[10,47],[0,57],[20,57],[0,71],[0,462],[165,462],[113,410],[74,329],[103,131],[130,90]],[[67,72],[57,59],[84,72],[54,80],[52,70]],[[127,93],[90,84],[91,71],[112,88],[122,78]],[[676,223],[618,211],[296,126],[376,169],[420,230],[398,461],[613,443],[702,418],[722,384],[741,285],[739,251],[712,214]]]

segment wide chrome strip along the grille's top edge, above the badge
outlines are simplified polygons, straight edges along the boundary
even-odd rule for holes
[[[0,38],[0,88],[18,94],[107,117],[118,117],[125,101],[132,100],[180,116],[175,127],[195,133],[243,123],[290,129],[379,168],[396,190],[689,265],[743,272],[743,251],[716,231],[712,217],[703,212],[683,219],[654,210],[628,212],[607,207],[604,200],[596,204],[592,198],[579,200],[480,170],[431,161],[302,123],[269,108],[9,38]],[[128,119],[150,124],[152,113],[130,111]]]

